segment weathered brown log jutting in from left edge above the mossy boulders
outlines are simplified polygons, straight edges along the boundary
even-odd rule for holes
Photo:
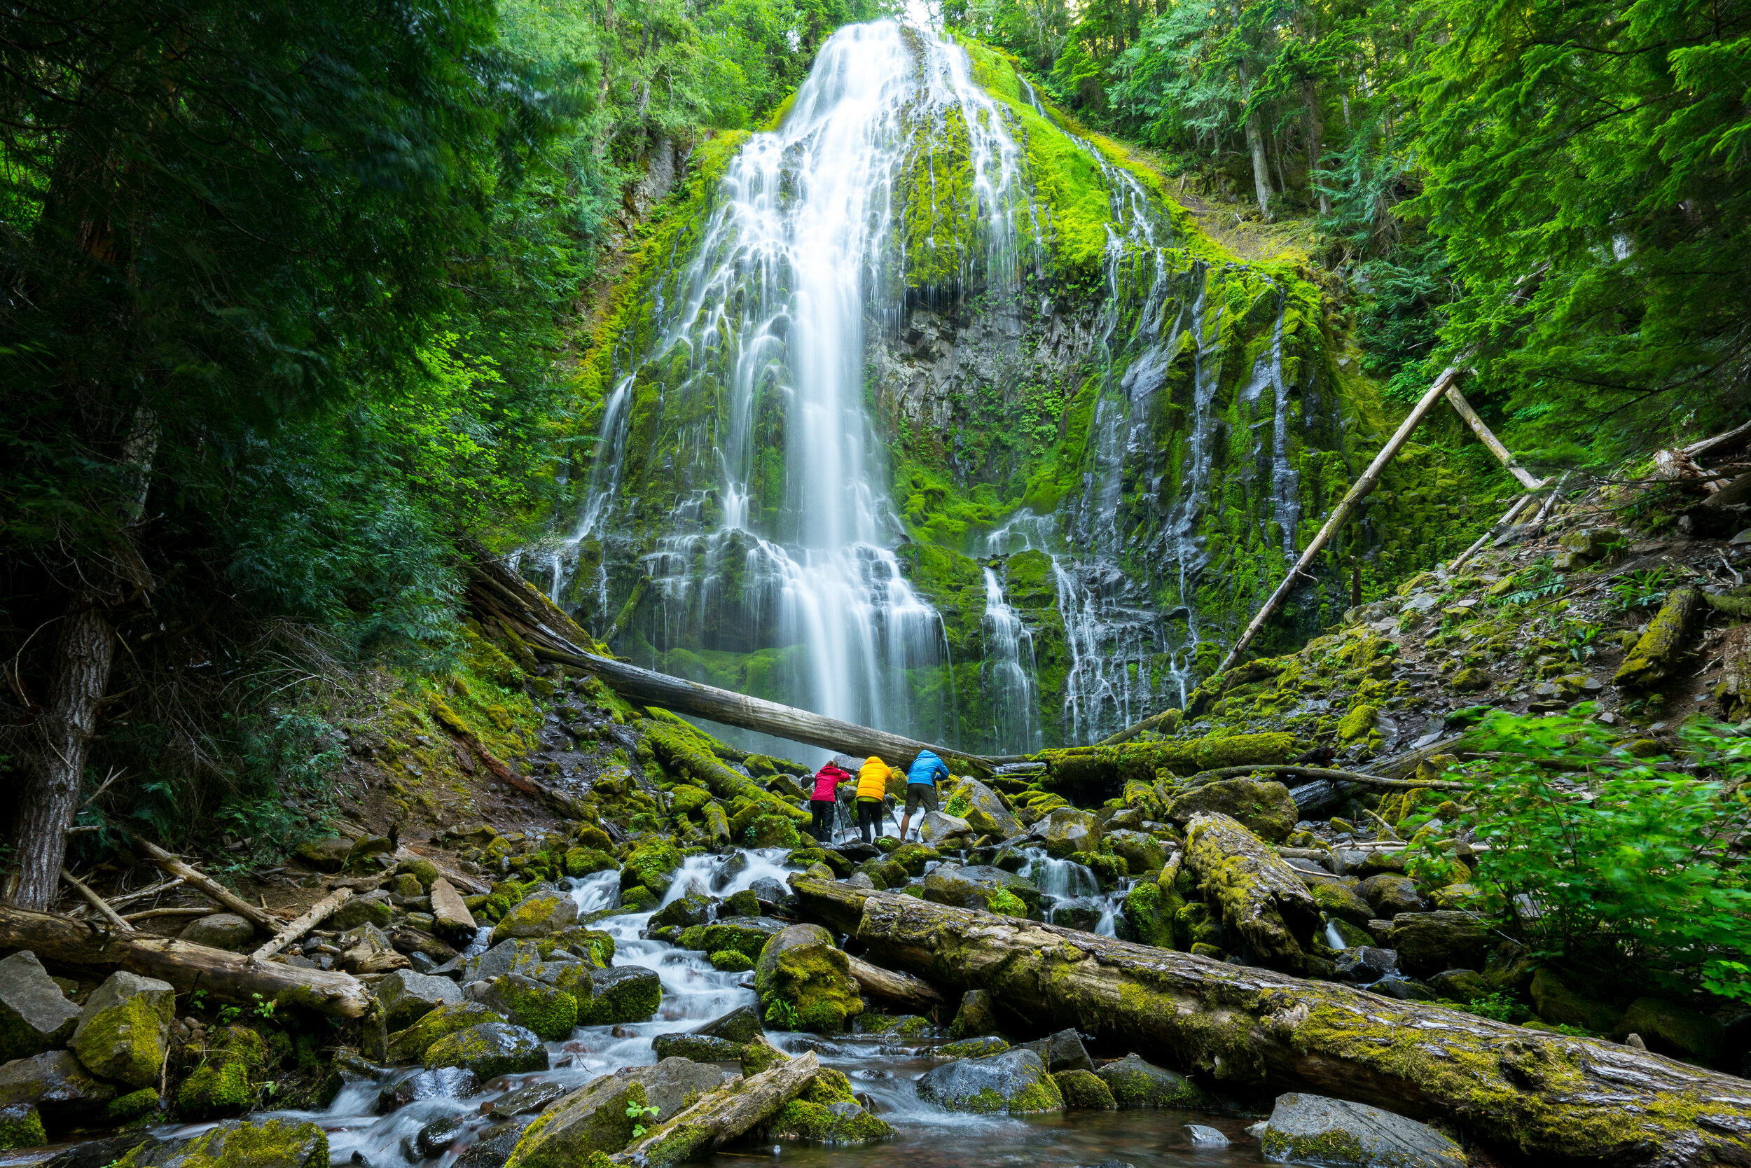
[[[158,909],[163,912],[163,909]],[[221,1002],[250,1005],[252,995],[336,1017],[364,1017],[375,998],[352,974],[250,961],[170,937],[98,930],[49,912],[0,905],[0,949],[30,949],[40,960],[91,970],[124,968],[158,977],[177,993],[205,989]]]

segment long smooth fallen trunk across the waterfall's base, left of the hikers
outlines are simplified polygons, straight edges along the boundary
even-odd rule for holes
[[[555,665],[583,669],[634,702],[660,706],[678,714],[721,721],[723,725],[742,727],[744,730],[760,730],[762,734],[819,746],[842,755],[877,755],[888,763],[907,763],[918,751],[932,749],[942,758],[960,762],[981,776],[991,774],[991,765],[979,755],[919,742],[900,734],[853,725],[839,718],[797,709],[795,706],[781,706],[734,690],[720,690],[714,685],[671,678],[653,669],[641,669],[611,657],[588,653],[567,636],[566,625],[571,625],[571,618],[559,613],[525,580],[513,574],[497,560],[476,560],[475,569],[476,580],[471,592],[475,606],[490,613],[501,623],[515,625],[513,632],[524,639],[536,658]],[[571,629],[583,636],[576,625],[571,625]]]

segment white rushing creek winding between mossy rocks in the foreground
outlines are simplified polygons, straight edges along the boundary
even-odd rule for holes
[[[783,851],[742,851],[730,856],[692,856],[676,874],[664,904],[688,891],[728,897],[753,886],[762,877],[783,881],[793,869],[783,865]],[[1098,932],[1112,933],[1114,911],[1122,891],[1100,893],[1094,876],[1068,860],[1031,860],[1035,883],[1052,911],[1075,909],[1098,914]],[[604,912],[618,900],[618,874],[604,872],[569,881],[580,912]],[[756,1002],[753,974],[720,974],[706,954],[678,949],[641,933],[651,912],[629,912],[595,919],[615,937],[615,965],[643,965],[662,979],[662,1005],[644,1023],[618,1026],[580,1026],[564,1042],[550,1042],[553,1066],[545,1072],[506,1075],[482,1084],[464,1098],[447,1098],[457,1079],[450,1072],[425,1072],[410,1103],[380,1114],[380,1096],[422,1072],[415,1066],[380,1068],[371,1079],[348,1082],[334,1101],[320,1112],[271,1112],[271,1115],[312,1121],[327,1131],[334,1164],[369,1164],[369,1168],[450,1168],[483,1136],[492,1135],[501,1119],[489,1112],[496,1101],[529,1084],[555,1084],[573,1091],[618,1066],[657,1061],[651,1038],[692,1030],[741,1005]],[[485,937],[485,930],[482,930]],[[478,953],[476,944],[471,953]],[[1049,1115],[970,1115],[923,1103],[916,1080],[944,1059],[932,1058],[933,1045],[947,1038],[902,1038],[898,1035],[809,1035],[769,1031],[767,1038],[790,1054],[814,1051],[825,1066],[842,1070],[853,1089],[868,1094],[872,1110],[893,1124],[895,1138],[863,1147],[825,1147],[805,1143],[756,1143],[751,1138],[711,1156],[704,1163],[716,1168],[742,1168],[758,1157],[790,1164],[877,1164],[902,1159],[912,1168],[960,1168],[963,1164],[1042,1164],[1070,1168],[1124,1161],[1135,1168],[1154,1164],[1255,1164],[1259,1145],[1247,1136],[1241,1121],[1231,1115],[1203,1115],[1177,1110],[1061,1112]],[[1119,1056],[1124,1051],[1107,1051]],[[447,1086],[452,1084],[452,1086]],[[410,1084],[411,1086],[411,1084]],[[420,1129],[454,1117],[461,1129],[438,1154],[422,1157],[417,1149]],[[524,1115],[518,1122],[531,1119]],[[1227,1135],[1229,1145],[1194,1143],[1185,1124],[1196,1122]],[[205,1131],[212,1124],[182,1124],[154,1129],[159,1136]],[[501,1157],[469,1161],[482,1168]],[[464,1164],[469,1168],[469,1164]]]

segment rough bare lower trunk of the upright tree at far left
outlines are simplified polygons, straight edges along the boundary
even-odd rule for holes
[[[40,912],[54,902],[67,860],[67,828],[79,811],[86,755],[114,660],[116,630],[103,613],[103,595],[84,585],[61,618],[49,700],[39,720],[42,737],[19,795],[12,853],[19,879],[12,904],[21,909]]]

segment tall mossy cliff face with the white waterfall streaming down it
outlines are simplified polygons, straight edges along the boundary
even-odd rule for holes
[[[774,130],[690,165],[520,560],[637,664],[965,749],[1091,741],[1184,702],[1390,429],[1311,284],[977,44],[844,28]],[[1466,541],[1443,457],[1408,450],[1333,566]],[[1264,646],[1345,606],[1317,578]]]

